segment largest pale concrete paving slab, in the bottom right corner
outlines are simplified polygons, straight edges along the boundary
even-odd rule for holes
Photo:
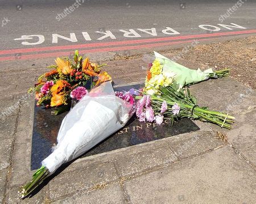
[[[256,173],[226,146],[125,181],[131,203],[254,203]]]

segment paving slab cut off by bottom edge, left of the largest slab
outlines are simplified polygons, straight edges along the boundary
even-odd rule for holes
[[[90,192],[76,193],[72,197],[53,201],[52,203],[126,203],[121,186],[118,184],[108,185],[105,188]]]

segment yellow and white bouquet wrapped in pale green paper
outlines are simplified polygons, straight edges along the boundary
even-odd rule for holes
[[[180,87],[188,86],[207,80],[209,78],[222,78],[229,76],[229,69],[213,71],[207,69],[205,71],[192,70],[180,65],[171,59],[168,59],[161,54],[154,52],[155,60],[150,64],[150,68],[147,71],[146,84],[144,91],[147,94],[152,95],[157,92],[159,86],[168,86],[175,79],[176,83]]]

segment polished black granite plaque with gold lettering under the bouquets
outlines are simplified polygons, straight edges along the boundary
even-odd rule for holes
[[[130,88],[139,88],[142,85],[125,86],[115,88],[117,91],[127,91]],[[66,113],[58,116],[51,114],[51,109],[35,106],[34,125],[32,135],[31,170],[40,168],[41,162],[52,152],[52,146],[56,143],[57,133],[61,121]],[[171,126],[170,120],[164,120],[162,125],[149,122],[139,122],[135,117],[131,118],[125,128],[106,138],[104,141],[86,152],[84,156],[100,154],[116,150],[118,148],[138,145],[156,139],[167,138],[173,135],[199,130],[199,127],[191,120],[183,118]]]

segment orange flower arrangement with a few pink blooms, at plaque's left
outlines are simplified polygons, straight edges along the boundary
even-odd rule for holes
[[[57,107],[53,114],[68,111],[71,107],[71,99],[81,100],[88,93],[89,89],[102,82],[111,80],[108,73],[101,72],[101,67],[90,62],[88,57],[79,56],[75,50],[74,61],[68,57],[55,59],[56,65],[49,68],[53,70],[41,75],[38,83],[28,92],[35,92],[36,105]]]

